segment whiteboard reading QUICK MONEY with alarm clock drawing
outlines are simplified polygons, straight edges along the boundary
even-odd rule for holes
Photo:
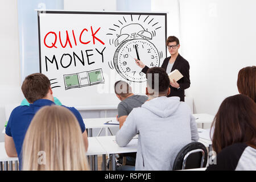
[[[119,103],[114,83],[144,94],[146,75],[135,64],[160,67],[167,54],[166,13],[38,11],[40,73],[64,105]]]

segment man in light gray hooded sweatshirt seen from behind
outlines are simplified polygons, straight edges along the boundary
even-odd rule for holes
[[[146,94],[150,101],[134,108],[116,134],[120,147],[139,134],[135,170],[172,170],[181,148],[199,139],[189,106],[179,97],[166,97],[169,85],[163,68],[148,69]]]

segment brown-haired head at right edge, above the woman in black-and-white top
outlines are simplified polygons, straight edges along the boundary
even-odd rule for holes
[[[237,88],[238,92],[249,96],[256,102],[256,67],[242,68],[238,73]]]

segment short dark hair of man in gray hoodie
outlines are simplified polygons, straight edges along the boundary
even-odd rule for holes
[[[151,74],[151,76],[150,76]],[[168,92],[168,88],[170,86],[170,79],[166,73],[166,71],[164,71],[163,68],[160,67],[152,67],[150,69],[147,70],[147,74],[146,74],[146,78],[147,78],[147,86],[149,86],[151,89],[155,89],[155,78],[158,74],[158,93],[159,94],[166,94]],[[154,92],[157,92],[156,90],[154,90]]]

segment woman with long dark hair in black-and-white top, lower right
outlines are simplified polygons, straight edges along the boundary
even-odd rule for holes
[[[256,170],[256,104],[237,94],[226,98],[214,118],[211,133],[217,163],[207,170]]]

